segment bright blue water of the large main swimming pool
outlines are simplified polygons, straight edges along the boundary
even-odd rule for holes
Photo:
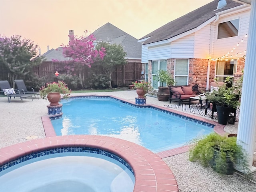
[[[160,152],[184,146],[213,132],[204,124],[155,108],[137,108],[112,98],[76,98],[63,102],[63,116],[52,120],[56,135],[90,134],[121,138]]]

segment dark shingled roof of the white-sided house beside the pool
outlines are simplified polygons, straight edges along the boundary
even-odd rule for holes
[[[180,18],[177,18],[176,20],[169,22],[168,24],[165,24],[164,26],[154,30],[139,40],[148,38],[144,41],[143,44],[168,40],[184,32],[197,28],[210,18],[214,17],[218,12],[242,5],[241,3],[234,2],[233,0],[226,0],[226,2],[226,6],[216,10],[218,6],[218,0],[214,0],[205,6],[202,6]]]

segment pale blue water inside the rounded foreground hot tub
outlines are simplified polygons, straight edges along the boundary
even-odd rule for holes
[[[18,168],[0,175],[0,191],[133,191],[135,178],[128,168],[107,156],[90,155],[47,157],[32,163],[26,162],[26,165],[21,163]]]

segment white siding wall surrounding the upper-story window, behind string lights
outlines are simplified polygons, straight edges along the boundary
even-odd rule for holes
[[[230,37],[230,38],[223,38],[223,39],[217,39],[218,34],[218,24],[222,22],[226,22],[229,20],[234,20],[240,18],[240,26],[239,26],[239,34],[236,37]],[[213,54],[212,58],[220,58],[226,53],[230,52],[228,55],[228,58],[231,58],[230,55],[234,57],[242,57],[244,55],[244,50],[246,50],[247,45],[247,38],[244,38],[245,34],[248,34],[248,28],[249,28],[249,18],[250,18],[250,11],[246,11],[244,13],[239,14],[233,14],[231,16],[227,17],[220,17],[218,22],[214,26],[214,37],[213,37]],[[240,42],[241,40],[244,40],[244,42]],[[239,43],[239,46],[236,44]],[[236,49],[231,52],[233,47],[236,47]],[[242,54],[238,54],[236,56],[235,54],[237,52],[242,52]]]

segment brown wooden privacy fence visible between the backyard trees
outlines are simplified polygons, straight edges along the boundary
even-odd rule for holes
[[[51,61],[44,61],[42,64],[34,68],[34,73],[39,78],[46,78],[47,82],[54,81],[54,72],[57,69],[63,68],[62,64]],[[119,66],[112,72],[111,83],[112,86],[125,87],[131,84],[135,79],[141,78],[142,64],[140,62],[129,62],[125,65]],[[97,71],[97,74],[101,74],[101,70]],[[88,82],[88,71],[84,70],[82,72],[82,81]]]

